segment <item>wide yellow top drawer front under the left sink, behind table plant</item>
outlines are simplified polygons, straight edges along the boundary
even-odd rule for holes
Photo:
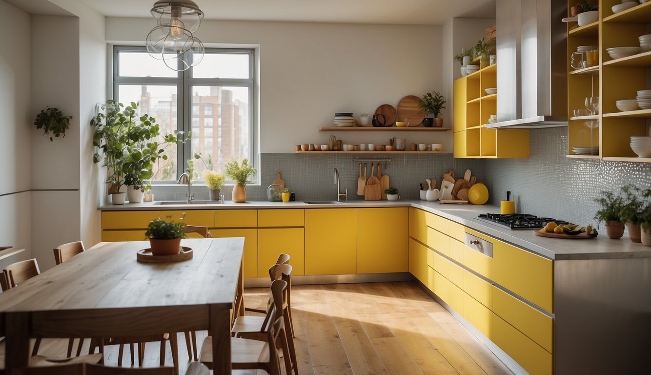
[[[215,217],[212,210],[174,210],[174,211],[102,211],[102,229],[146,229],[149,222],[161,217],[167,220],[171,215],[178,221],[186,213],[187,225],[213,227]]]

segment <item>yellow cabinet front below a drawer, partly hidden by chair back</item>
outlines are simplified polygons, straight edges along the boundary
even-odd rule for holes
[[[258,277],[269,276],[269,268],[281,253],[290,256],[292,275],[305,275],[303,234],[303,228],[258,229]]]

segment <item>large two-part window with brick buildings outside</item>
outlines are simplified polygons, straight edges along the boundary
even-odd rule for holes
[[[174,72],[141,47],[115,47],[113,56],[115,100],[138,102],[138,113],[160,124],[161,137],[191,131],[191,141],[167,148],[168,160],[154,167],[153,180],[176,180],[195,153],[204,161],[194,163],[194,178],[200,179],[206,167],[224,173],[230,161],[259,160],[253,49],[206,49],[204,59],[185,72]]]

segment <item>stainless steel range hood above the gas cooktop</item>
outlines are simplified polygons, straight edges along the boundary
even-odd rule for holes
[[[564,0],[497,0],[497,120],[487,128],[567,126]]]

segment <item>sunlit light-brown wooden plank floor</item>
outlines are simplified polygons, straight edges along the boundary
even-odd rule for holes
[[[265,289],[247,289],[245,304],[262,305],[267,296]],[[512,374],[413,282],[295,285],[292,314],[301,375]],[[204,337],[205,332],[198,334],[200,345]],[[184,374],[189,361],[183,335],[178,339]],[[39,354],[64,355],[66,344],[49,340]],[[0,346],[4,363],[4,342]],[[125,352],[124,363],[129,364]],[[148,344],[145,367],[158,366],[158,353],[157,343]],[[105,361],[117,363],[117,347],[107,347]],[[166,363],[172,365],[169,344]]]

